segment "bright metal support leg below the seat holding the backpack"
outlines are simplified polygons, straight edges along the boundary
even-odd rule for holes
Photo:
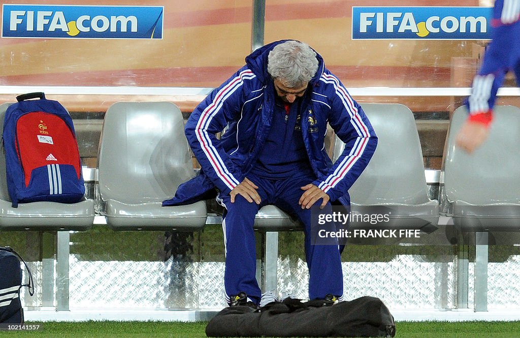
[[[56,310],[69,310],[69,254],[70,233],[58,231],[56,258]]]

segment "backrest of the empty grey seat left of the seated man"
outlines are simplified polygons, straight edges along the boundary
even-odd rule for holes
[[[193,177],[179,108],[169,102],[118,102],[106,112],[99,143],[102,201],[162,202]]]

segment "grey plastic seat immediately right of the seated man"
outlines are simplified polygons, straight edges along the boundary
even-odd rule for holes
[[[410,109],[401,104],[361,105],[378,146],[365,171],[349,189],[352,212],[362,215],[389,212],[385,226],[420,229],[437,224],[439,204],[430,200],[417,126]],[[343,152],[336,136],[333,160]],[[359,224],[358,224],[359,223]],[[351,222],[370,226],[364,222]]]

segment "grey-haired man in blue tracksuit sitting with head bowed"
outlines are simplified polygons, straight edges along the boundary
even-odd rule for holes
[[[307,44],[270,43],[245,61],[190,115],[185,132],[201,174],[163,205],[193,203],[218,190],[217,201],[225,207],[229,305],[257,306],[261,299],[253,223],[268,204],[304,224],[309,299],[341,299],[341,246],[337,240],[311,241],[310,207],[349,205],[347,191],[367,166],[377,138],[359,104]],[[346,144],[335,164],[324,149],[327,123]]]

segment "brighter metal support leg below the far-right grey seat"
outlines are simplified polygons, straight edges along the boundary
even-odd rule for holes
[[[487,311],[488,233],[477,232],[475,235],[475,311]]]

